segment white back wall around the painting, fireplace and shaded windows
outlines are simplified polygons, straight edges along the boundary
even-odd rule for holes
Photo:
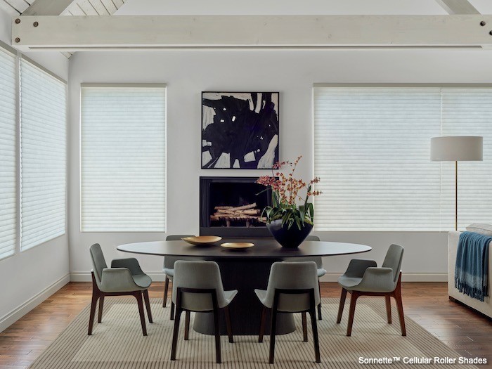
[[[167,230],[198,233],[199,176],[257,176],[265,171],[200,169],[201,91],[280,91],[280,157],[304,155],[300,174],[311,176],[312,88],[316,82],[492,82],[492,51],[478,50],[235,50],[77,53],[70,61],[70,271],[91,268],[88,247],[101,243],[108,259],[122,243],[163,240],[163,233],[80,233],[79,114],[82,82],[167,83]],[[330,181],[330,178],[323,178]],[[381,260],[392,242],[406,247],[407,280],[446,280],[446,233],[318,233],[323,240],[373,247]],[[138,257],[160,272],[159,257]],[[349,257],[326,259],[333,279]],[[439,275],[440,274],[440,275]],[[85,274],[86,276],[86,274]]]

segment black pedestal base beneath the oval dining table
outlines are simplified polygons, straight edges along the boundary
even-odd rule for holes
[[[241,251],[228,251],[241,252]],[[214,258],[221,269],[224,290],[238,290],[229,305],[233,335],[258,335],[261,309],[254,289],[266,290],[271,264],[281,259],[227,259]],[[270,316],[266,319],[265,335],[270,334]],[[195,313],[193,330],[205,335],[214,335],[214,316],[212,313]],[[227,335],[224,313],[220,315],[221,335]],[[277,316],[277,335],[294,332],[295,324],[292,314],[282,313]]]

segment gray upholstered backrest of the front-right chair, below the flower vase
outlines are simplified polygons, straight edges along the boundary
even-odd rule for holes
[[[318,268],[314,261],[299,261],[291,263],[273,263],[266,288],[266,304],[273,306],[275,290],[304,290],[314,289],[314,304],[320,303],[318,287]],[[280,294],[279,311],[305,311],[309,309],[309,294]]]

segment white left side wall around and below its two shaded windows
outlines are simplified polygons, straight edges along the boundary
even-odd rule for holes
[[[0,39],[10,44],[11,18],[0,9]],[[60,53],[27,53],[37,63],[68,77]],[[31,250],[0,260],[0,332],[68,282],[68,237],[60,236]]]

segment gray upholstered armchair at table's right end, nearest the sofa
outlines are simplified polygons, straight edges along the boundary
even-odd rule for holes
[[[406,336],[405,316],[403,316],[403,304],[401,302],[403,250],[403,247],[399,245],[391,245],[380,268],[377,267],[374,260],[353,259],[344,275],[338,278],[338,283],[342,286],[342,297],[340,297],[337,323],[342,321],[347,292],[351,294],[347,336],[352,333],[356,302],[361,296],[384,296],[388,323],[391,323],[391,297],[393,297],[398,307],[401,335]]]

